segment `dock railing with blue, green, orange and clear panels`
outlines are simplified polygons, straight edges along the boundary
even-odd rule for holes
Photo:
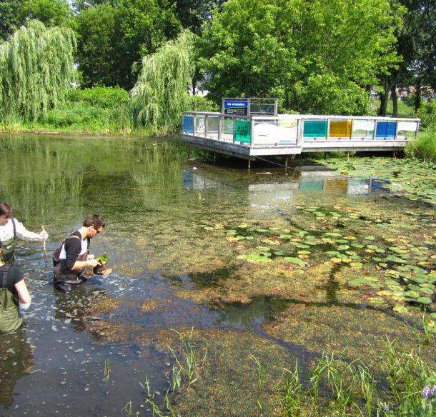
[[[381,141],[405,146],[417,138],[420,119],[379,116],[336,116],[281,114],[278,116],[239,116],[214,112],[186,111],[182,135],[239,146],[257,148],[350,147],[362,142],[375,148]]]

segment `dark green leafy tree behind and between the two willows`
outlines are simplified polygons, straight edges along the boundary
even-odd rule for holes
[[[116,6],[108,2],[81,11],[76,23],[84,85],[125,89],[134,86],[134,62],[174,39],[181,28],[169,0],[117,0]]]

